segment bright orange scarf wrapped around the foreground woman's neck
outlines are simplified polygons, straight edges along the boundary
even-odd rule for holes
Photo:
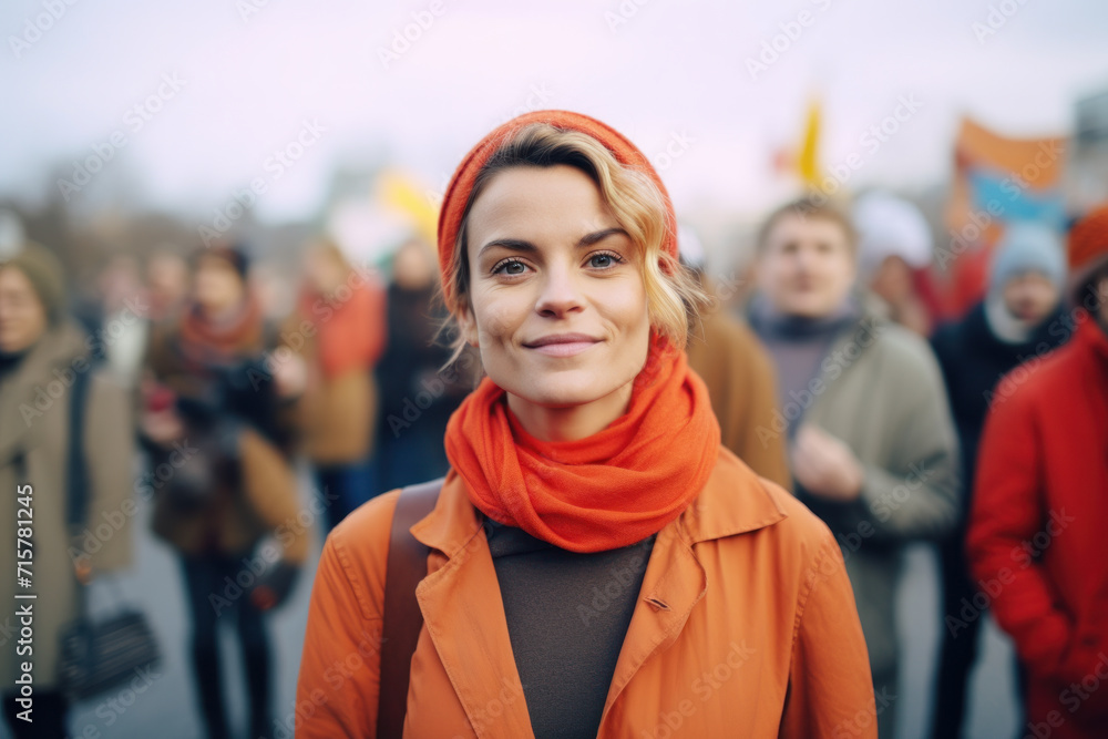
[[[485,378],[450,418],[447,456],[485,515],[571,552],[640,542],[699,494],[719,453],[708,389],[652,333],[627,412],[598,433],[535,439]]]

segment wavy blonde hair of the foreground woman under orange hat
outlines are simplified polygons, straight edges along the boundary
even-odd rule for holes
[[[447,302],[450,318],[444,328],[456,331],[456,316],[470,299],[466,225],[478,196],[505,170],[560,164],[584,172],[596,183],[601,199],[639,250],[650,326],[674,346],[684,349],[690,326],[700,309],[708,305],[708,298],[691,270],[665,249],[667,240],[676,238],[676,234],[670,232],[661,191],[647,173],[620,164],[604,144],[588,134],[548,123],[533,123],[521,129],[478,172],[454,242],[458,258],[452,260],[453,271],[448,276],[452,297]],[[465,340],[456,331],[451,362],[464,347]]]

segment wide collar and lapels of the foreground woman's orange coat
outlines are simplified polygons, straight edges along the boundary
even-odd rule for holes
[[[601,719],[643,664],[669,647],[708,589],[693,545],[756,531],[786,517],[776,495],[724,447],[697,500],[658,532],[643,587],[624,638]],[[417,540],[445,562],[419,584],[416,596],[435,651],[478,737],[532,737],[523,686],[511,648],[503,598],[483,515],[451,470],[434,510],[412,526]],[[434,558],[437,555],[432,555]],[[495,679],[472,679],[473,675]],[[495,726],[489,720],[496,707]]]

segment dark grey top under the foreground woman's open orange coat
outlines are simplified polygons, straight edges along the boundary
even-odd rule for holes
[[[594,739],[655,537],[578,554],[484,525],[535,739]]]

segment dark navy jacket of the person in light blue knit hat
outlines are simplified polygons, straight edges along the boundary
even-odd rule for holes
[[[1023,362],[1042,358],[1069,339],[1073,325],[1059,308],[1036,328],[1026,341],[1009,343],[989,328],[984,302],[974,306],[962,320],[940,327],[931,339],[946,381],[951,413],[962,444],[962,473],[966,511],[973,500],[977,447],[985,417],[992,407],[996,383]]]

